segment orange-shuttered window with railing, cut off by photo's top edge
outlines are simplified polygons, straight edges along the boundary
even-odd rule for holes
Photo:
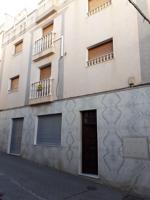
[[[99,12],[110,4],[111,0],[88,0],[88,15]]]

